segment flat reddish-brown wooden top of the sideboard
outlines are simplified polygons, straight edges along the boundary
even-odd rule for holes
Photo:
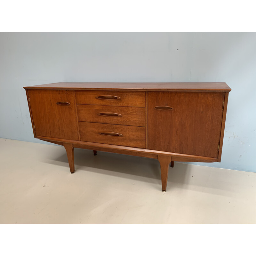
[[[118,90],[167,92],[230,92],[226,83],[53,83],[25,86],[24,89]]]

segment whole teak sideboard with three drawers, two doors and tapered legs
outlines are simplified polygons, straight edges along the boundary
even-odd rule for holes
[[[162,191],[169,164],[220,162],[226,83],[54,83],[24,87],[34,137],[74,148],[156,158]]]

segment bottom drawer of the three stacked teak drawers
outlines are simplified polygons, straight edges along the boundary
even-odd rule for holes
[[[79,122],[82,141],[145,148],[145,127]]]

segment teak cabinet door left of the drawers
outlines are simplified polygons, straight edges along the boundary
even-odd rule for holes
[[[78,140],[74,91],[30,89],[28,95],[37,136]]]

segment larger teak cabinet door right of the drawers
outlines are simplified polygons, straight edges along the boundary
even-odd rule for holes
[[[148,92],[148,149],[217,158],[224,95]]]

